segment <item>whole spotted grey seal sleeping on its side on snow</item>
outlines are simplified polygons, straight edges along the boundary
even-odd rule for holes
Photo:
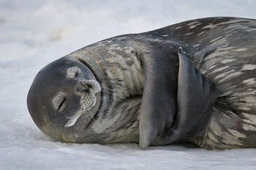
[[[27,106],[63,142],[256,147],[256,20],[196,19],[88,45],[42,68]]]

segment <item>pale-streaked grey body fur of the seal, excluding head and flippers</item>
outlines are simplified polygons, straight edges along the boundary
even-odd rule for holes
[[[219,92],[206,130],[187,141],[206,149],[256,147],[256,21],[226,17],[121,35],[69,54],[87,64],[102,85],[107,102],[92,125],[97,134],[111,134],[102,143],[138,141],[145,82],[140,56],[152,45],[167,51],[182,46]]]

